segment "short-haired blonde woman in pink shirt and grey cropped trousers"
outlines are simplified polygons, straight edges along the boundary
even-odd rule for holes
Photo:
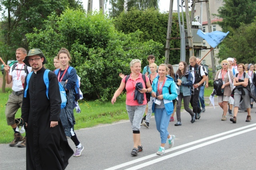
[[[146,100],[146,93],[149,93],[152,91],[152,87],[150,85],[150,81],[147,76],[146,78],[146,84],[142,78],[141,71],[141,62],[138,59],[134,59],[130,63],[131,68],[131,74],[128,75],[129,78],[126,81],[125,76],[122,79],[122,82],[119,86],[119,88],[116,90],[111,103],[114,104],[116,102],[116,98],[122,93],[124,88],[126,89],[126,110],[130,119],[130,122],[132,124],[132,132],[133,132],[133,149],[131,154],[133,156],[136,156],[139,151],[142,151],[142,145],[140,141],[140,121],[143,117],[143,114],[146,109],[147,100]],[[135,88],[136,83],[141,82],[143,84],[143,88],[141,90],[138,90],[140,93],[144,94],[144,101],[142,104],[139,104],[137,100],[134,100],[134,94],[135,94]]]

